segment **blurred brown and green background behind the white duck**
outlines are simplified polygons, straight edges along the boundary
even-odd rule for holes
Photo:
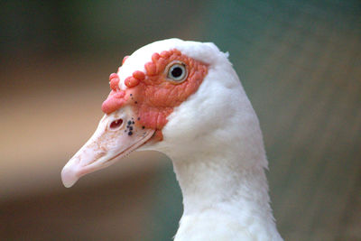
[[[1,1],[0,239],[171,240],[181,194],[161,153],[65,189],[108,76],[146,43],[229,51],[264,132],[286,240],[361,240],[361,2]]]

